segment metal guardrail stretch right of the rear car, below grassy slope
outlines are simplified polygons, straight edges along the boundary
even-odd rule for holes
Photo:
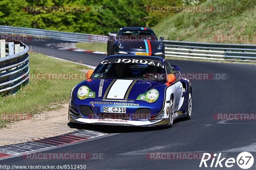
[[[165,44],[165,56],[256,62],[256,45],[201,43],[188,41],[163,41]]]

